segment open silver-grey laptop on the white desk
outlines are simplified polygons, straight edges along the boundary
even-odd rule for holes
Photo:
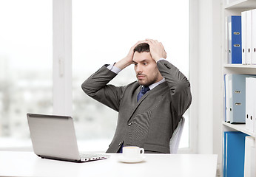
[[[72,117],[27,114],[27,121],[34,153],[43,159],[90,162],[109,157],[78,152]]]

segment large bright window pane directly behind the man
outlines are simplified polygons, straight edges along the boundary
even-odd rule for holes
[[[117,113],[87,97],[81,83],[106,63],[124,58],[132,45],[145,38],[164,44],[167,58],[189,77],[189,0],[73,0],[73,117],[78,139],[105,139],[110,144]],[[135,81],[133,66],[112,83]],[[181,147],[189,147],[189,117]]]

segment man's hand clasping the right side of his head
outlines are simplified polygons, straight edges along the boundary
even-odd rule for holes
[[[145,42],[149,44],[150,53],[155,62],[157,62],[160,58],[166,58],[166,52],[161,42],[152,39],[146,39]]]

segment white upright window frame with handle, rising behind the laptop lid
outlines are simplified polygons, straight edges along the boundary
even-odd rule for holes
[[[53,1],[53,114],[73,115],[72,0]]]

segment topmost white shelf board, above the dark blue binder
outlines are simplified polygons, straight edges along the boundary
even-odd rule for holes
[[[226,4],[225,9],[255,9],[256,1],[255,0],[238,0],[229,4]]]

